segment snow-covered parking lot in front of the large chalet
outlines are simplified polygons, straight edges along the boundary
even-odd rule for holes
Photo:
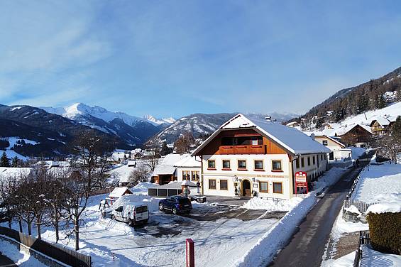
[[[150,205],[148,224],[135,228],[99,219],[93,211],[81,240],[99,256],[94,266],[110,266],[113,254],[115,266],[185,266],[188,238],[195,244],[197,266],[230,266],[285,214],[232,205],[192,202],[192,206],[189,214],[175,215],[158,211],[156,199]]]

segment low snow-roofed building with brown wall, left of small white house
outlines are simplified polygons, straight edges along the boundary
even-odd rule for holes
[[[177,180],[177,172],[175,163],[185,158],[186,155],[168,154],[164,158],[160,158],[158,165],[152,173],[153,182],[158,185],[165,185],[169,182]]]

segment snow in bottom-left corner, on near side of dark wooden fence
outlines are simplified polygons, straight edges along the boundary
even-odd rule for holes
[[[4,256],[10,258],[17,266],[45,267],[45,264],[38,261],[35,257],[26,254],[24,251],[19,251],[16,246],[13,246],[8,241],[2,239],[0,239],[0,252]]]

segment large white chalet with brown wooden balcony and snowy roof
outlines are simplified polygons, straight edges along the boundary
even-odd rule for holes
[[[326,170],[330,152],[297,129],[238,114],[192,156],[201,160],[204,195],[290,199],[297,192],[295,173],[315,180]]]

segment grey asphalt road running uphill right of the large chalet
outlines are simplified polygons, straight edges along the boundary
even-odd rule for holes
[[[346,194],[361,168],[348,171],[341,177],[317,205],[307,214],[290,243],[282,249],[269,266],[314,267],[320,266],[331,227],[340,212]]]

